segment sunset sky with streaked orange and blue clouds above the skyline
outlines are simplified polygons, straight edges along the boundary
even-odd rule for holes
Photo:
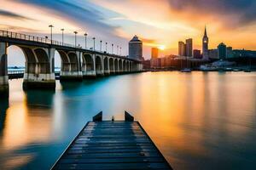
[[[201,49],[207,26],[210,48],[224,42],[233,48],[256,49],[255,0],[0,0],[0,29],[49,36],[74,42],[73,31],[96,40],[114,43],[128,53],[128,41],[138,35],[144,43],[143,55],[150,48],[163,47],[161,54],[177,54],[177,42],[194,39]],[[99,45],[99,42],[97,43]],[[90,45],[91,46],[91,43]]]

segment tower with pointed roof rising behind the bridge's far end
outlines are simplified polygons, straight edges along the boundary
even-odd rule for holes
[[[129,42],[129,58],[143,59],[143,42],[137,36]]]

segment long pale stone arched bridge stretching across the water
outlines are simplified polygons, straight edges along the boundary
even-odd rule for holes
[[[0,31],[0,95],[9,96],[8,48],[19,47],[26,58],[23,88],[55,89],[55,51],[61,56],[60,79],[81,81],[87,77],[103,77],[142,71],[136,59],[81,48],[44,37],[12,31]]]

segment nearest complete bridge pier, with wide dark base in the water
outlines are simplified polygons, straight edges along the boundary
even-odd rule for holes
[[[55,90],[55,49],[35,48],[32,53],[24,49],[26,55],[26,71],[23,77],[23,89]],[[30,59],[33,59],[32,62]]]

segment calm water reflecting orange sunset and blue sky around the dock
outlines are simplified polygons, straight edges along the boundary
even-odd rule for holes
[[[0,102],[0,169],[49,169],[98,111],[130,111],[175,169],[256,169],[256,73],[147,72],[57,82]]]

